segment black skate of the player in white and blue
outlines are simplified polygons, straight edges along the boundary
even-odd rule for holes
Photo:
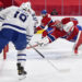
[[[19,80],[23,80],[26,78],[26,71],[24,70],[24,67],[21,66],[21,63],[17,63],[17,74],[19,74]]]

